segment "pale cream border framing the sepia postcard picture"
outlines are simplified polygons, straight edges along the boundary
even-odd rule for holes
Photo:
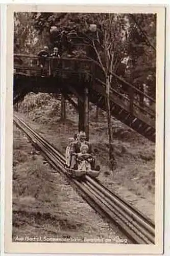
[[[79,243],[12,243],[12,127],[13,127],[13,12],[151,12],[157,13],[157,93],[156,93],[156,245],[112,245]],[[163,248],[163,162],[164,162],[164,44],[165,9],[158,6],[7,6],[7,87],[5,106],[5,252],[13,253],[162,253]],[[159,177],[159,178],[158,178]]]

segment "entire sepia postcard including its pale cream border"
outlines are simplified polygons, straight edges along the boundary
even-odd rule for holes
[[[82,10],[9,8],[7,252],[159,253],[164,8]]]

